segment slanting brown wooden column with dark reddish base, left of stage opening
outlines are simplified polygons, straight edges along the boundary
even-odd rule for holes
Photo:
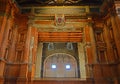
[[[32,32],[32,25],[29,24],[27,30],[27,38],[25,42],[24,49],[24,64],[20,66],[19,78],[17,80],[17,84],[26,84],[28,81],[28,69],[29,69],[29,55],[30,55],[30,38]]]

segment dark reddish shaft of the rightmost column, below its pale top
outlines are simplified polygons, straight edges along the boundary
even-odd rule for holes
[[[112,12],[112,11],[111,11]],[[118,51],[118,62],[120,62],[120,24],[119,24],[119,19],[118,16],[116,15],[115,11],[111,13],[111,23],[112,23],[112,28],[113,28],[113,34],[114,34],[114,40],[115,40],[115,46]],[[117,61],[116,60],[116,61]],[[116,84],[120,83],[120,63],[118,63],[118,77],[114,79]]]

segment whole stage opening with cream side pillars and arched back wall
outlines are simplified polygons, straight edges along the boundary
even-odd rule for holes
[[[39,42],[35,78],[86,79],[83,43]]]

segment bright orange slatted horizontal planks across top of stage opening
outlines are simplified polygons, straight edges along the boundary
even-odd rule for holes
[[[40,42],[82,42],[82,32],[39,32]]]

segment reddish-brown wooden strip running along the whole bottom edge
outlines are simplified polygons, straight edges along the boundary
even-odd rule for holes
[[[106,80],[106,79],[79,79],[79,78],[42,78],[42,79],[34,79],[32,81],[26,81],[26,80],[9,80],[5,83],[0,84],[119,84],[115,83],[115,81],[112,80]]]

